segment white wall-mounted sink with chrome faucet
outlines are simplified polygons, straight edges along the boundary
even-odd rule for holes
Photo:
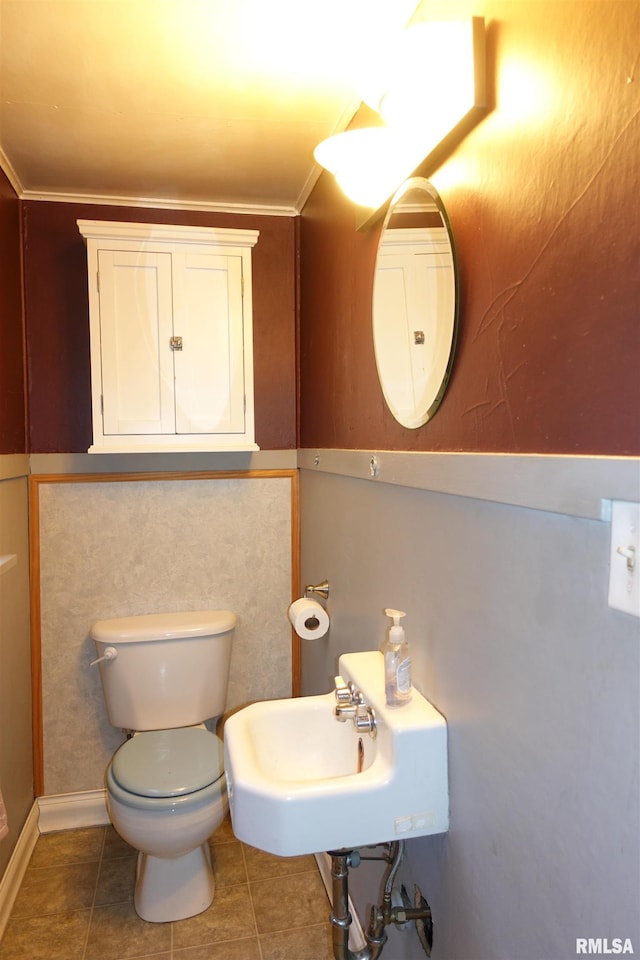
[[[235,835],[279,856],[354,848],[449,828],[447,726],[417,690],[387,707],[377,651],[340,657],[376,736],[334,716],[335,694],[265,700],[225,725]]]

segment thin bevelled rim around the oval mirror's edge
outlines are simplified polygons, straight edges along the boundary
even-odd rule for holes
[[[411,191],[414,190],[423,190],[429,195],[430,200],[432,201],[435,211],[440,215],[442,221],[442,226],[446,230],[446,236],[448,238],[449,250],[451,256],[451,269],[453,271],[453,309],[451,321],[451,341],[449,344],[448,356],[444,370],[442,371],[441,380],[438,386],[437,393],[435,397],[429,402],[429,406],[426,409],[418,408],[415,411],[415,415],[411,418],[402,417],[401,414],[394,410],[394,404],[392,399],[389,396],[388,385],[385,386],[383,383],[383,377],[381,375],[381,362],[378,357],[379,348],[376,348],[376,273],[378,269],[378,261],[380,256],[380,249],[383,244],[384,236],[386,230],[389,228],[389,223],[394,213],[397,213],[397,207],[400,201]],[[434,211],[434,212],[435,212]],[[433,416],[435,415],[438,407],[442,403],[445,391],[449,384],[451,377],[451,372],[453,369],[453,361],[455,357],[457,339],[458,339],[458,328],[459,328],[459,317],[460,317],[460,277],[458,270],[458,257],[456,252],[455,240],[453,236],[453,231],[451,229],[451,223],[449,217],[440,197],[440,194],[433,186],[433,184],[424,177],[410,177],[406,180],[400,188],[396,191],[394,196],[389,202],[389,207],[386,211],[384,222],[382,224],[382,229],[380,231],[380,236],[378,238],[378,248],[376,252],[376,260],[374,266],[374,280],[373,280],[373,294],[372,294],[372,304],[371,304],[371,323],[372,323],[372,333],[373,333],[373,345],[374,345],[374,354],[376,359],[376,370],[378,374],[378,382],[380,383],[380,388],[382,390],[385,403],[390,413],[393,415],[394,419],[400,423],[403,427],[409,430],[415,430],[419,427],[424,426],[428,423]]]

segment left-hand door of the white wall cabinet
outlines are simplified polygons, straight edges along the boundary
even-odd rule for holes
[[[173,433],[171,254],[99,250],[105,435]]]

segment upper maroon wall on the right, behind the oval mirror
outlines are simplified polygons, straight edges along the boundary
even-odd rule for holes
[[[323,174],[301,222],[301,445],[638,455],[640,4],[474,12],[492,106],[431,176],[460,262],[448,391],[417,430],[388,412],[371,332],[379,226],[357,233]]]

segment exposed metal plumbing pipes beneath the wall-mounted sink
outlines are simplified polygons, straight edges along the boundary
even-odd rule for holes
[[[387,942],[385,928],[390,923],[400,924],[410,920],[428,919],[430,921],[431,919],[431,910],[426,901],[415,908],[393,906],[392,891],[404,856],[404,840],[395,840],[384,846],[387,848],[387,853],[383,857],[361,858],[357,850],[329,851],[333,893],[331,927],[335,960],[377,960]],[[385,873],[382,903],[378,907],[371,908],[369,927],[365,933],[367,946],[354,952],[349,948],[349,927],[352,922],[349,913],[349,867],[359,866],[361,859],[383,859],[387,861],[388,867]]]

